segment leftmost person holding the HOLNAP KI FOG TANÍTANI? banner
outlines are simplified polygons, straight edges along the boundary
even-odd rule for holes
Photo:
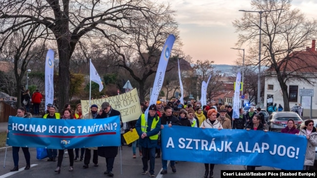
[[[25,111],[24,107],[19,107],[18,111],[17,111],[17,115],[16,117],[21,117],[21,118],[31,118],[32,114],[28,113]],[[7,132],[9,132],[9,130],[7,130]],[[24,154],[24,158],[26,161],[26,166],[25,166],[25,170],[30,169],[30,160],[31,160],[31,155],[29,152],[29,148],[28,147],[21,147],[23,154]],[[13,162],[14,162],[14,168],[10,170],[10,172],[13,171],[19,171],[19,151],[20,151],[20,147],[18,146],[12,146],[12,157],[13,157]]]

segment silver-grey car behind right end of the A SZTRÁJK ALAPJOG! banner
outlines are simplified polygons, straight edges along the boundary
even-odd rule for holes
[[[287,125],[287,121],[293,119],[296,125],[299,125],[303,120],[299,117],[296,112],[290,111],[281,111],[281,112],[272,112],[269,116],[269,131],[280,132],[282,128]]]

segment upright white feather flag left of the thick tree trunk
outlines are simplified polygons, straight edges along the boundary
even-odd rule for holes
[[[45,106],[54,104],[54,51],[48,50],[45,60]]]

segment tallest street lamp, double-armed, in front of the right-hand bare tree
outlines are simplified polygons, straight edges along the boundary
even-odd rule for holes
[[[242,12],[257,12],[260,14],[260,25],[259,25],[259,43],[258,43],[258,107],[261,107],[261,100],[260,100],[260,91],[261,91],[261,24],[262,24],[262,13],[263,12],[272,12],[272,11],[279,11],[283,9],[276,9],[276,10],[268,10],[268,11],[246,11],[246,10],[239,10]]]

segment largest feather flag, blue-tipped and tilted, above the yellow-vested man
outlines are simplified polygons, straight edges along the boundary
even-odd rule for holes
[[[158,62],[158,70],[156,72],[149,106],[156,104],[156,101],[158,100],[159,91],[161,90],[163,85],[168,59],[170,58],[170,54],[171,54],[175,39],[176,37],[173,34],[169,35],[163,46],[163,50]],[[149,113],[149,107],[144,111],[145,120],[146,120],[145,125],[147,125],[148,113]]]

